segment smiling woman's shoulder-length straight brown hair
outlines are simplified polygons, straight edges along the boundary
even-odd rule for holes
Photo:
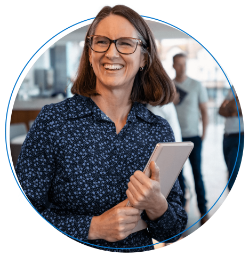
[[[86,33],[85,45],[71,93],[81,94],[86,97],[99,94],[95,90],[97,77],[89,62],[90,44],[87,36],[94,35],[99,22],[111,14],[122,16],[130,21],[143,44],[141,51],[145,56],[146,65],[135,76],[130,98],[131,102],[149,103],[152,106],[163,106],[170,103],[175,95],[175,85],[162,66],[154,36],[143,18],[125,5],[103,7],[91,23]]]

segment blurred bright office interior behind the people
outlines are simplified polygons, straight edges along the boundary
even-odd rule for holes
[[[146,22],[155,35],[160,59],[168,75],[172,79],[175,77],[175,70],[172,67],[173,56],[177,53],[185,53],[187,55],[187,76],[200,81],[207,89],[209,124],[206,138],[203,141],[202,173],[209,210],[222,194],[228,181],[222,149],[224,117],[218,114],[218,110],[230,90],[230,85],[212,55],[195,39],[164,23],[148,19]],[[41,108],[73,96],[70,93],[71,81],[78,68],[86,31],[87,25],[60,38],[41,54],[21,82],[14,101],[10,123],[13,166],[17,162],[26,134]],[[201,122],[200,131],[202,131]],[[189,161],[184,165],[184,177],[187,183],[188,229],[200,218]],[[219,201],[208,213],[209,217],[212,217],[219,209],[228,194],[229,190],[226,188]],[[191,234],[199,227],[198,222],[183,233],[183,236]]]

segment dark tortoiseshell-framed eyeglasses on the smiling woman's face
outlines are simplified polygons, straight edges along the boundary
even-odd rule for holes
[[[140,39],[132,37],[122,37],[111,40],[106,36],[87,36],[90,47],[94,52],[106,52],[110,48],[111,43],[115,43],[116,49],[122,54],[132,54],[135,52],[138,43],[142,43]]]

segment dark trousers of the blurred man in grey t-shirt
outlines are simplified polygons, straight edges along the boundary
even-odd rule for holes
[[[199,136],[196,137],[189,137],[189,138],[182,138],[182,141],[191,141],[194,143],[194,148],[192,149],[190,155],[189,155],[189,161],[192,166],[192,172],[194,175],[194,180],[195,180],[195,191],[197,195],[197,203],[198,203],[198,208],[201,214],[206,213],[206,199],[205,199],[205,188],[204,188],[204,183],[202,180],[202,173],[200,171],[200,153],[202,151],[202,139]],[[184,197],[185,195],[185,183],[184,183],[184,177],[183,177],[183,169],[179,174],[179,183],[183,192],[183,196],[181,199],[182,205],[185,206],[186,204],[186,198]]]

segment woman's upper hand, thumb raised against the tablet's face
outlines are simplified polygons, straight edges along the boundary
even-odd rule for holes
[[[150,178],[141,171],[134,172],[128,182],[126,195],[133,207],[146,210],[148,218],[156,220],[167,211],[168,204],[160,192],[159,167],[151,162],[150,169]]]

